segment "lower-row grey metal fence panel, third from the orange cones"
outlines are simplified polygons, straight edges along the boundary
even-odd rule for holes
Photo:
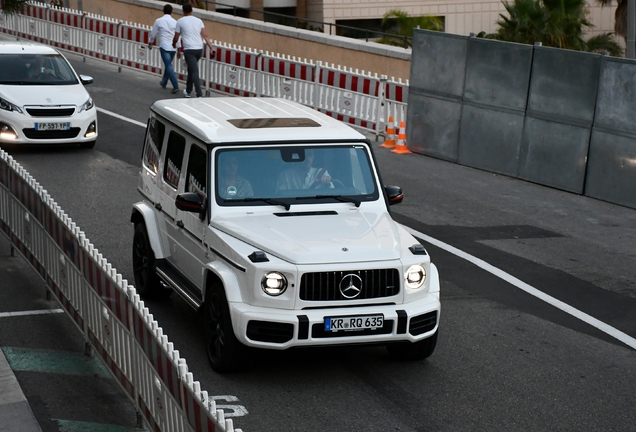
[[[519,178],[583,193],[590,129],[526,117]]]

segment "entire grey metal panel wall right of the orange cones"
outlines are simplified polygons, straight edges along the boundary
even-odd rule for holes
[[[636,61],[416,30],[414,152],[636,208]]]

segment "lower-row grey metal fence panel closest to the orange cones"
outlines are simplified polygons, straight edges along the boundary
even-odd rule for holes
[[[411,88],[406,123],[409,150],[457,161],[460,101],[438,99]]]

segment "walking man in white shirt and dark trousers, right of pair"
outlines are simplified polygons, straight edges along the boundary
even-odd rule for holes
[[[183,5],[183,17],[177,21],[177,27],[174,37],[172,38],[172,46],[175,48],[179,37],[181,37],[183,56],[188,66],[188,80],[186,81],[186,88],[183,91],[183,95],[190,97],[192,86],[194,86],[197,97],[202,97],[203,92],[201,91],[198,63],[203,54],[203,42],[205,42],[210,49],[212,58],[214,58],[214,50],[210,38],[205,33],[203,21],[192,15],[192,5],[190,3]]]

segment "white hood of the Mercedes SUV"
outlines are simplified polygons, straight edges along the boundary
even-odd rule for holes
[[[294,264],[400,258],[397,225],[386,212],[346,210],[333,215],[232,215],[213,228]]]

